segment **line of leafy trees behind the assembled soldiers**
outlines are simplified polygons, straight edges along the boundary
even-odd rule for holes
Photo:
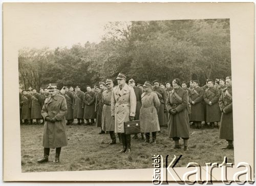
[[[229,19],[109,22],[99,43],[71,48],[22,48],[19,84],[39,89],[94,85],[119,72],[137,83],[231,75]]]

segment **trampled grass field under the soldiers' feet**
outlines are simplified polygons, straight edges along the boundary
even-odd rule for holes
[[[154,168],[152,156],[161,154],[173,155],[182,158],[176,167],[185,167],[189,162],[196,162],[201,166],[205,163],[222,163],[227,156],[228,163],[234,163],[233,150],[222,150],[227,146],[225,140],[220,140],[219,129],[190,129],[188,150],[173,149],[174,141],[167,137],[167,128],[161,128],[157,134],[157,144],[146,144],[139,138],[132,139],[132,152],[130,154],[116,153],[122,148],[118,141],[116,145],[109,145],[110,135],[98,135],[96,126],[68,125],[68,146],[62,147],[60,162],[55,164],[55,149],[50,150],[49,162],[38,164],[36,161],[42,157],[43,125],[20,125],[22,172],[50,172],[50,171],[83,171],[106,169],[142,169]],[[132,135],[133,136],[133,135]],[[139,135],[140,136],[140,135]],[[183,140],[180,140],[183,144]]]

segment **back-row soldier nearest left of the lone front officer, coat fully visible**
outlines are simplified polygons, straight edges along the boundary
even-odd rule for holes
[[[31,119],[36,119],[34,124],[40,124],[42,119],[41,109],[42,109],[42,98],[39,93],[36,92],[36,89],[32,90],[31,96]]]

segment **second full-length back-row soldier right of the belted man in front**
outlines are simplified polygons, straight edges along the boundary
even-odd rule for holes
[[[210,123],[210,127],[214,128],[215,122],[221,120],[221,111],[219,107],[219,89],[214,87],[211,79],[207,81],[208,89],[204,92],[204,101],[206,103],[206,122]]]

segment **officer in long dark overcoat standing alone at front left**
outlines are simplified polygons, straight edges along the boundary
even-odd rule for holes
[[[46,98],[42,107],[42,117],[45,119],[42,146],[44,157],[38,163],[48,162],[50,148],[56,148],[54,163],[59,162],[61,147],[68,145],[66,119],[67,102],[64,96],[57,94],[54,87],[48,87],[50,96]]]

